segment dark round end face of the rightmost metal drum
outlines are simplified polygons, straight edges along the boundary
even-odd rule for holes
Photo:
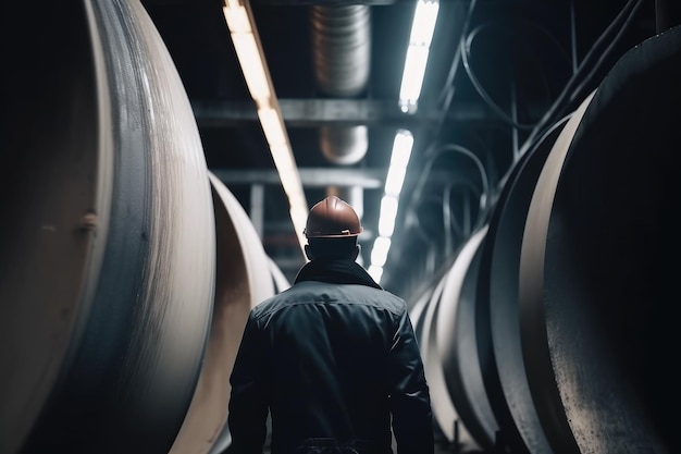
[[[533,303],[544,310],[560,409],[580,452],[681,450],[667,370],[677,354],[669,295],[681,271],[680,57],[677,27],[617,62],[562,172],[544,186],[555,193],[550,206],[531,212],[543,226],[535,242],[545,242],[532,257],[543,268]]]

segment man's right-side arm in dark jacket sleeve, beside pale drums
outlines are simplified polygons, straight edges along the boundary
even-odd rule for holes
[[[397,454],[432,454],[435,447],[429,388],[406,307],[393,335],[388,365]]]

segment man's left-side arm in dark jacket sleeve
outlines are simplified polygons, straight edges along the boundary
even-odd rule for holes
[[[230,377],[232,394],[227,421],[232,442],[227,454],[262,454],[268,417],[262,361],[259,330],[251,312]]]

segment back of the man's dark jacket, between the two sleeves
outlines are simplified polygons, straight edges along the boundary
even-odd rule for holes
[[[284,437],[391,444],[386,352],[400,306],[389,294],[382,304],[375,293],[386,292],[308,281],[258,312],[272,341],[273,427]]]

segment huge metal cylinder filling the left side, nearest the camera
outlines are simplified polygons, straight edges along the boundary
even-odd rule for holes
[[[214,291],[189,101],[138,1],[8,8],[0,452],[165,453]]]

